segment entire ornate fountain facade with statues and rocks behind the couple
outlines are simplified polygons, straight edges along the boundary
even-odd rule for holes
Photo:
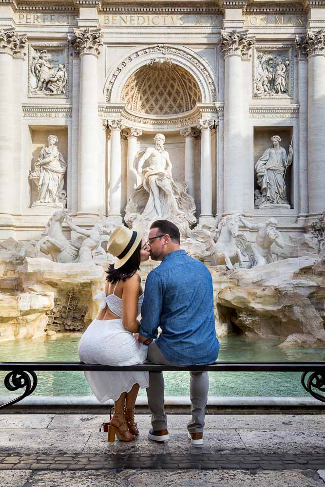
[[[165,218],[219,337],[325,347],[324,29],[325,0],[2,1],[0,341],[84,330],[112,231]]]

